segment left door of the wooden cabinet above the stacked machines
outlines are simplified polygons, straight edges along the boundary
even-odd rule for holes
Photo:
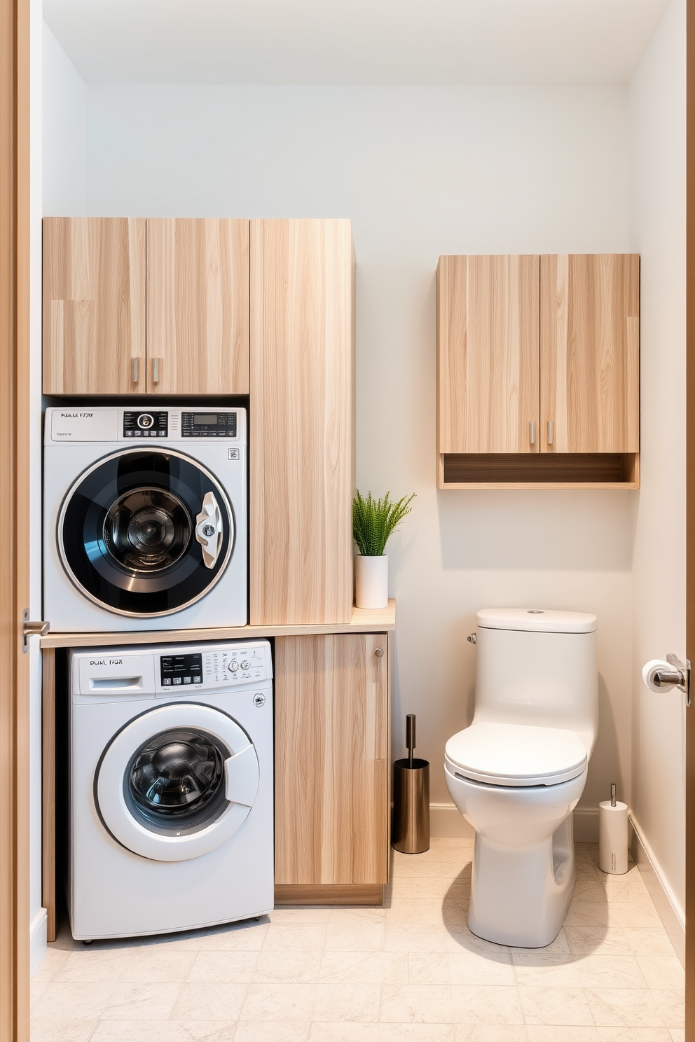
[[[44,219],[44,393],[145,391],[145,220]]]

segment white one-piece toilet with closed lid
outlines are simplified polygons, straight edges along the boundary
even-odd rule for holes
[[[485,609],[475,644],[473,722],[444,754],[475,829],[468,925],[538,948],[557,936],[574,888],[572,811],[598,733],[596,616]]]

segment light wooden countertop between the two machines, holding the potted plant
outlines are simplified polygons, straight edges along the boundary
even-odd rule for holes
[[[120,634],[61,634],[51,631],[41,638],[42,648],[105,647],[111,644],[173,644],[185,641],[243,640],[253,637],[303,637],[307,634],[375,634],[396,628],[396,601],[388,607],[370,611],[353,607],[352,618],[344,623],[311,626],[221,626],[219,629],[157,629]]]

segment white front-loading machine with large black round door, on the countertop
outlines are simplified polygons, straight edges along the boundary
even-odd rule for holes
[[[246,445],[244,408],[47,408],[51,629],[245,625]]]

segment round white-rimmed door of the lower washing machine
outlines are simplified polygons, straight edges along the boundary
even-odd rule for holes
[[[258,780],[253,744],[231,717],[171,702],[114,736],[97,766],[94,797],[122,846],[153,861],[187,861],[244,824]]]

